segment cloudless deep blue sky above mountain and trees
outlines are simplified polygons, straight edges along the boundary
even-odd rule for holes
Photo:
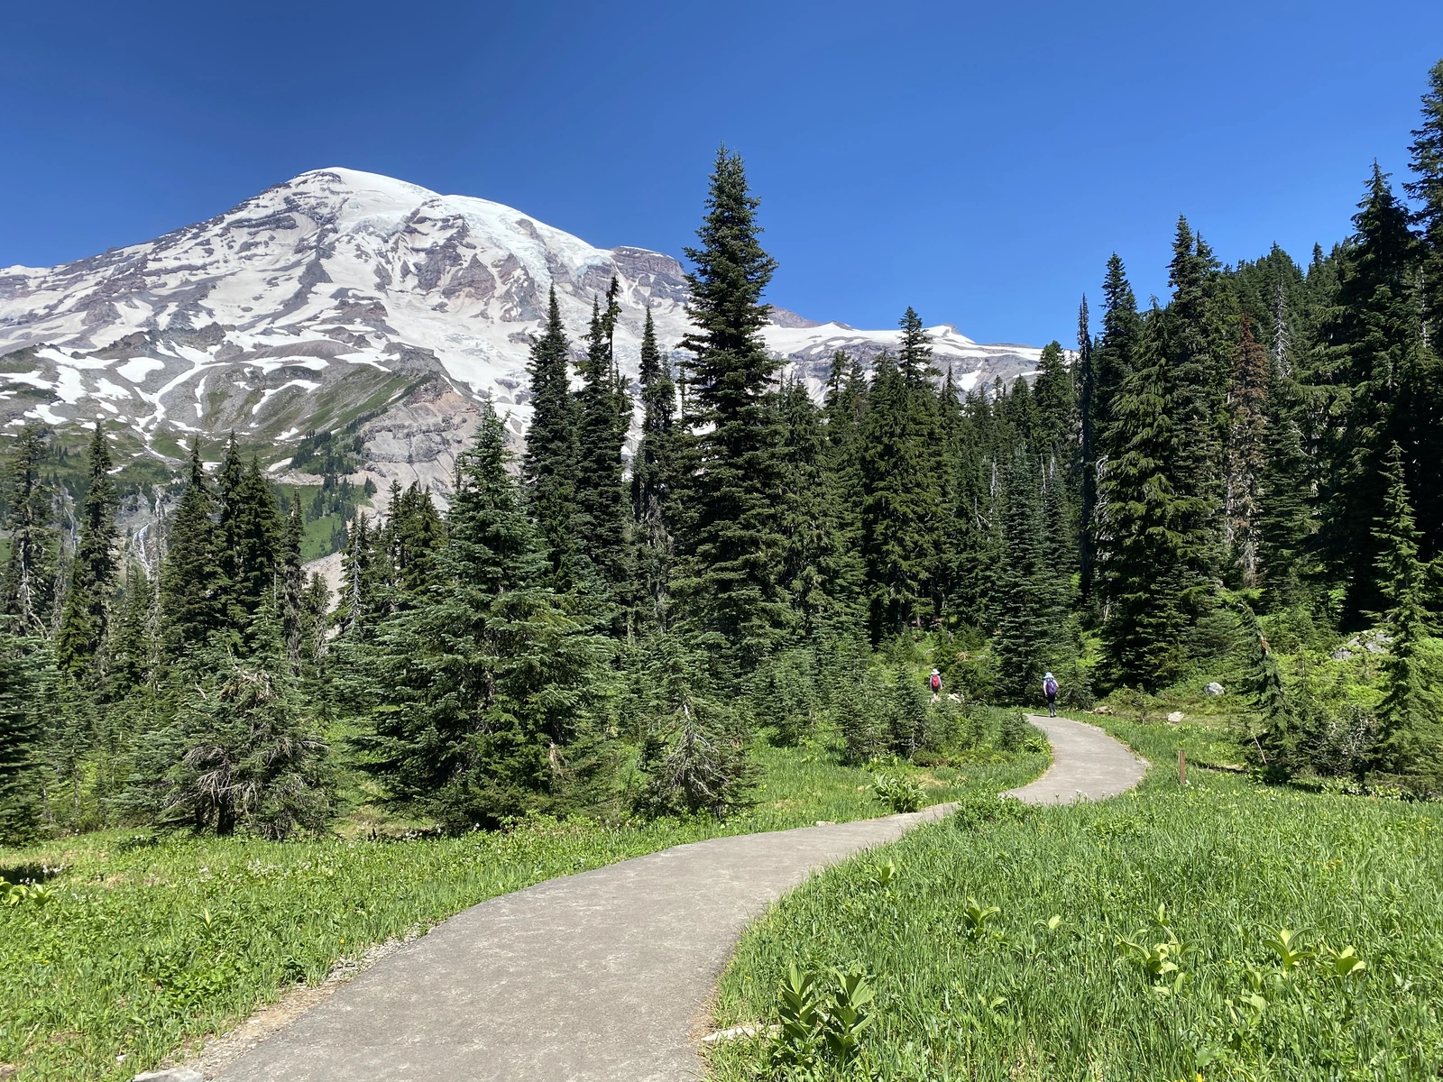
[[[12,3],[0,265],[149,239],[343,164],[680,254],[717,143],[771,299],[1074,338],[1179,212],[1227,261],[1348,231],[1401,179],[1443,3]]]

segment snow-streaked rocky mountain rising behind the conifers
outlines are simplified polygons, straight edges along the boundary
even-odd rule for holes
[[[0,270],[0,426],[104,415],[153,454],[235,430],[283,469],[306,431],[352,424],[378,478],[444,485],[482,395],[528,418],[525,359],[554,284],[573,340],[612,276],[635,372],[649,304],[685,330],[670,255],[595,248],[501,203],[351,169],[302,173],[206,222],[59,267]],[[820,384],[837,349],[870,361],[896,330],[778,309],[769,348]],[[1032,371],[1039,351],[934,327],[964,385]]]

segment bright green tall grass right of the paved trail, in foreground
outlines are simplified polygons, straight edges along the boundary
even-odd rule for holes
[[[1443,817],[1160,765],[812,879],[743,938],[719,1024],[773,1020],[794,962],[873,975],[859,1078],[1439,1078]],[[769,1078],[766,1056],[723,1044],[713,1078]]]

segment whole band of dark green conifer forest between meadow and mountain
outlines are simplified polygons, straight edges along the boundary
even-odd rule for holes
[[[444,501],[355,515],[335,596],[302,495],[234,437],[192,453],[147,567],[104,420],[71,486],[32,423],[4,447],[0,832],[726,815],[755,742],[818,718],[906,759],[1046,671],[1082,710],[1224,664],[1247,766],[1437,796],[1443,65],[1410,150],[1303,258],[1221,265],[1179,218],[1172,293],[1139,303],[1113,255],[1032,378],[960,391],[908,309],[818,401],[759,343],[776,264],[723,149],[685,340],[648,317],[632,382],[615,286],[584,327],[553,294],[524,452],[488,408]],[[924,639],[934,703],[898,661]],[[1312,671],[1346,642],[1371,682]]]

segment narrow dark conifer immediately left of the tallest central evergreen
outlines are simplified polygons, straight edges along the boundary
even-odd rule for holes
[[[641,336],[641,440],[632,459],[632,516],[639,534],[639,586],[644,628],[665,630],[670,623],[670,581],[674,554],[678,483],[677,388],[671,365],[657,346],[657,325],[646,309]]]

